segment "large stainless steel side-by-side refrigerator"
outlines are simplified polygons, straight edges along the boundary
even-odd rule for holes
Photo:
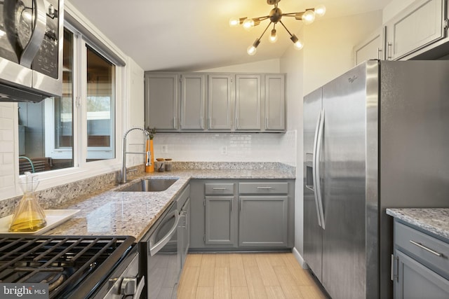
[[[449,207],[449,61],[370,60],[304,97],[304,260],[392,298],[393,207]]]

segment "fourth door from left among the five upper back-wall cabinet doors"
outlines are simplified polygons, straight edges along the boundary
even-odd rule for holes
[[[236,75],[236,130],[260,130],[260,75]]]

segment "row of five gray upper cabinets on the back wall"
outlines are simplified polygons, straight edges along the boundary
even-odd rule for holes
[[[145,125],[162,132],[285,132],[285,74],[145,72]]]

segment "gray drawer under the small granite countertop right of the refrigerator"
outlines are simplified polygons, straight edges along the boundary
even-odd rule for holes
[[[402,223],[394,224],[396,246],[413,254],[431,270],[449,279],[449,244]]]

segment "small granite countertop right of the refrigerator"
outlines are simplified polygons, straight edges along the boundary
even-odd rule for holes
[[[449,208],[387,209],[387,214],[449,240]]]

